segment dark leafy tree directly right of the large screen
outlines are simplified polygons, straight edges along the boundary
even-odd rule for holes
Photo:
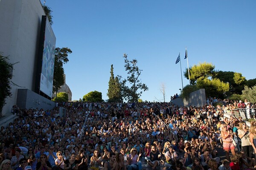
[[[71,54],[70,48],[55,48],[55,60],[54,60],[54,73],[53,73],[53,93],[58,92],[62,85],[64,85],[64,68],[63,64],[66,64],[69,60],[68,54]]]

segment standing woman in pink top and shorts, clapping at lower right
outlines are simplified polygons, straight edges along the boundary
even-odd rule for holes
[[[235,146],[233,144],[233,139],[230,134],[230,130],[228,130],[226,124],[221,124],[221,138],[223,142],[223,150],[226,151],[226,158],[230,161],[229,157],[229,151],[231,150],[231,153],[235,156]]]

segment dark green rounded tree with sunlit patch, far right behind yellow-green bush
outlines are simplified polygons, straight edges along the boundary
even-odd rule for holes
[[[216,71],[213,77],[220,79],[222,82],[229,83],[230,94],[241,94],[246,82],[245,77],[241,73],[233,71]]]

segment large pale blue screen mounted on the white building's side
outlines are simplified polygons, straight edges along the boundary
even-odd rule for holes
[[[44,50],[40,77],[40,91],[52,98],[56,37],[47,17],[44,33]]]

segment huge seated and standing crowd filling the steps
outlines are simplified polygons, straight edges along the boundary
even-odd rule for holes
[[[142,170],[143,163],[152,170],[254,170],[256,122],[248,128],[242,117],[224,117],[230,104],[63,102],[51,111],[24,109],[1,127],[0,170]]]

